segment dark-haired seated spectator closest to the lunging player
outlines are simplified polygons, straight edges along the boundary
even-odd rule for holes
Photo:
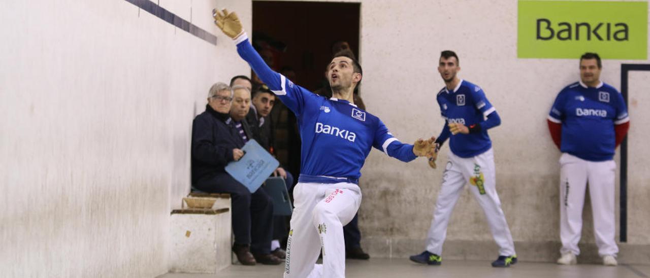
[[[253,103],[248,116],[246,116],[248,125],[253,131],[253,138],[272,155],[274,155],[274,130],[269,114],[275,102],[276,95],[266,85],[258,86],[253,91]],[[287,185],[287,191],[291,190],[293,175],[289,171],[285,171],[280,166],[273,175],[282,177]],[[280,259],[286,257],[285,251],[280,246],[280,241],[287,236],[288,232],[287,216],[274,216],[271,253]]]

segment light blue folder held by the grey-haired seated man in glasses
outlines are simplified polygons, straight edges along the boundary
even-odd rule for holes
[[[248,140],[242,147],[244,156],[228,163],[226,172],[253,193],[275,171],[279,162],[255,140]]]

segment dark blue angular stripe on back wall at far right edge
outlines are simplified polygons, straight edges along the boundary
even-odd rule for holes
[[[621,64],[621,94],[625,99],[625,107],[630,110],[628,105],[628,73],[630,71],[650,71],[650,64]],[[620,177],[620,241],[627,242],[627,136],[621,143],[621,177]]]

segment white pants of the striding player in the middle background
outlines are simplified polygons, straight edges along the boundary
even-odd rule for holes
[[[471,158],[461,158],[449,152],[443,184],[435,202],[434,219],[426,238],[426,250],[441,255],[449,218],[468,181],[471,184],[469,190],[483,208],[492,236],[499,246],[499,255],[515,255],[512,235],[495,186],[492,149]]]

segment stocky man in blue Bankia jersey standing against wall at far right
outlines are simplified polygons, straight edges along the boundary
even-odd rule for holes
[[[600,80],[601,58],[580,57],[580,82],[566,86],[548,116],[560,157],[560,239],[558,264],[576,264],[582,230],[584,192],[589,183],[593,229],[598,255],[616,266],[614,234],[614,153],[630,126],[623,95]]]

